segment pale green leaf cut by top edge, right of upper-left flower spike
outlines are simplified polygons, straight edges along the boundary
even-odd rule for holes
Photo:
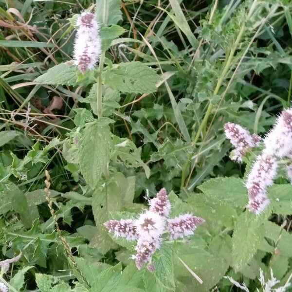
[[[105,25],[117,24],[122,19],[120,0],[96,0],[96,18]]]

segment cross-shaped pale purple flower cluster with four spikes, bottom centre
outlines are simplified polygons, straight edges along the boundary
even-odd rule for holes
[[[133,256],[136,266],[140,270],[143,265],[151,260],[151,257],[162,242],[162,235],[168,232],[170,239],[191,236],[195,229],[204,222],[204,219],[184,214],[174,219],[168,219],[170,201],[166,190],[161,189],[156,198],[149,201],[149,211],[146,211],[138,219],[109,220],[104,225],[116,237],[125,237],[128,240],[137,240],[137,254]],[[152,263],[148,265],[150,272],[155,271]]]

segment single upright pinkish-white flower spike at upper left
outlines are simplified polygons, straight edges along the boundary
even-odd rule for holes
[[[94,68],[101,54],[99,25],[90,12],[81,13],[76,24],[79,28],[75,37],[74,59],[79,71],[85,73]]]

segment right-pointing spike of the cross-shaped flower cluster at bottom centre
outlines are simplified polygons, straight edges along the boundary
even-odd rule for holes
[[[183,214],[174,219],[168,219],[167,231],[170,239],[191,236],[194,234],[196,228],[204,222],[205,220],[200,217],[191,214]]]

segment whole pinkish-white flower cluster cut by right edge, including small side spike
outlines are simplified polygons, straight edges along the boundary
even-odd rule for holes
[[[241,161],[246,151],[258,146],[261,138],[250,133],[239,125],[227,123],[225,135],[235,146],[235,160]],[[274,183],[277,174],[278,159],[292,159],[292,109],[283,110],[277,121],[264,139],[264,149],[256,158],[248,175],[246,187],[249,202],[247,208],[260,214],[269,204],[267,188]],[[292,164],[287,166],[287,176],[292,183]]]

